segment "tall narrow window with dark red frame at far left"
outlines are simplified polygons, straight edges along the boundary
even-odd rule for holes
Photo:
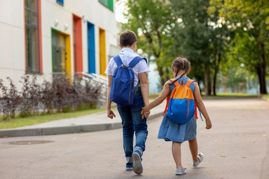
[[[38,0],[25,0],[27,73],[40,73],[38,3]]]

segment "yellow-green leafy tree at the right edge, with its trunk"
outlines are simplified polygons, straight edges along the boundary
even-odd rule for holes
[[[211,5],[220,9],[219,16],[224,17],[229,27],[237,33],[237,40],[234,41],[235,56],[246,65],[246,69],[258,75],[260,93],[267,94],[268,1],[211,0]]]

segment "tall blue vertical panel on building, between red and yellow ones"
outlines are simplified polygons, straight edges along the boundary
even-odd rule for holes
[[[88,71],[95,73],[94,25],[88,22]]]

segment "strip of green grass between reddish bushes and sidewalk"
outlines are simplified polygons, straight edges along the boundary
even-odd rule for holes
[[[72,111],[69,113],[56,113],[56,114],[48,114],[48,115],[37,115],[31,116],[27,118],[14,118],[6,121],[0,121],[0,129],[9,129],[9,128],[18,128],[24,127],[28,125],[40,124],[50,121],[55,121],[59,119],[67,119],[74,118],[79,116],[90,115],[93,113],[98,113],[106,111],[106,108],[98,108],[98,109],[86,109],[86,110],[78,110]]]

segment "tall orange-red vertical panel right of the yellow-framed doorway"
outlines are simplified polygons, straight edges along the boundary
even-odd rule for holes
[[[81,18],[73,15],[73,28],[75,28],[74,36],[74,71],[82,72],[82,29],[81,29]]]

